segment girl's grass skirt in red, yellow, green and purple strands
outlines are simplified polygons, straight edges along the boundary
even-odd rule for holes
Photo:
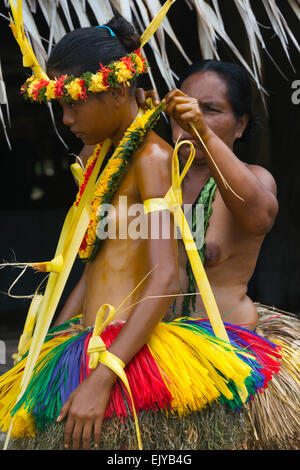
[[[123,325],[109,324],[101,334],[107,348]],[[137,413],[151,410],[185,416],[214,402],[238,410],[243,406],[243,386],[247,401],[262,392],[279,372],[280,346],[245,328],[226,323],[225,327],[231,346],[214,336],[207,319],[186,317],[159,323],[125,368]],[[55,423],[61,406],[91,372],[87,347],[92,332],[80,326],[80,317],[49,330],[18,403],[27,355],[0,377],[3,432],[12,416],[13,438],[34,436]],[[105,418],[124,422],[131,412],[128,392],[118,379]]]

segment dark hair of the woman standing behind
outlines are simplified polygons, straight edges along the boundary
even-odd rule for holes
[[[212,71],[220,75],[227,84],[228,99],[233,113],[238,119],[244,114],[249,121],[243,136],[239,141],[246,141],[254,134],[256,128],[261,127],[259,118],[252,111],[252,89],[247,73],[237,64],[218,60],[201,60],[190,65],[180,78],[178,88],[184,80],[198,72]]]

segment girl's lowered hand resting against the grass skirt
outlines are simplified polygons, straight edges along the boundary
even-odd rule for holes
[[[110,391],[116,378],[110,370],[99,365],[95,371],[82,382],[62,406],[57,422],[67,415],[64,431],[64,446],[75,450],[89,450],[94,436],[94,447],[99,446],[102,422],[109,401]],[[104,373],[101,372],[104,371]],[[100,372],[100,373],[99,373]]]

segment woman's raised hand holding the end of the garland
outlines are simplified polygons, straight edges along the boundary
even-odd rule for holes
[[[191,98],[177,88],[174,88],[166,94],[162,103],[165,105],[164,111],[194,138],[197,139],[197,135],[190,123],[194,124],[203,140],[209,136],[210,129],[205,122],[196,98]]]

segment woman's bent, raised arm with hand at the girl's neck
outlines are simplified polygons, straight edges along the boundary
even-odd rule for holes
[[[276,184],[272,175],[262,167],[247,166],[240,161],[208,127],[196,99],[174,89],[162,102],[166,105],[166,112],[177,124],[199,142],[190,122],[194,124],[215,164],[234,191],[225,187],[220,173],[204,149],[206,163],[223,201],[240,226],[249,234],[265,235],[272,228],[278,212]]]

